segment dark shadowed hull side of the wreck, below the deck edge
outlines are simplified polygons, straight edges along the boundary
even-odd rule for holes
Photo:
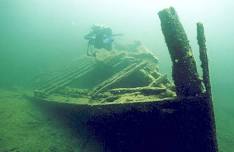
[[[36,102],[70,128],[86,130],[81,151],[92,142],[107,152],[216,152],[213,111],[209,98],[157,102],[78,105]],[[85,137],[85,138],[84,138]]]

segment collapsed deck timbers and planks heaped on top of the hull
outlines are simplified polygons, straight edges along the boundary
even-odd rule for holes
[[[53,79],[35,90],[35,97],[77,104],[103,104],[176,96],[173,83],[166,74],[159,72],[158,58],[151,53],[122,51],[102,56],[96,61],[84,57],[77,61],[79,66],[71,66],[65,73],[57,72]]]

